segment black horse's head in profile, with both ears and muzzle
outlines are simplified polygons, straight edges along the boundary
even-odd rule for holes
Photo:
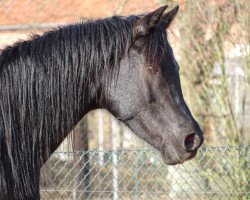
[[[164,14],[166,7],[133,24],[129,51],[120,61],[104,107],[171,165],[193,158],[203,133],[184,101],[179,66],[166,35],[178,6]]]

